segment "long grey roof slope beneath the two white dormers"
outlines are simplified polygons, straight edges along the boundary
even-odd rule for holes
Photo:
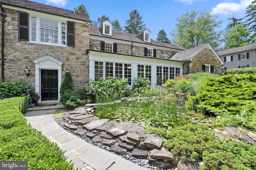
[[[150,39],[151,42],[144,42],[144,41],[138,39],[138,37],[136,37],[137,36],[136,34],[132,34],[132,33],[124,33],[124,32],[120,32],[120,31],[112,30],[112,36],[103,35],[100,32],[99,27],[94,27],[94,26],[90,26],[89,33],[90,33],[90,35],[95,35],[95,36],[99,36],[99,37],[106,37],[106,38],[130,41],[130,42],[134,42],[134,43],[143,43],[143,44],[149,44],[149,45],[156,45],[156,46],[160,46],[160,47],[167,47],[167,48],[172,48],[172,49],[185,50],[184,48],[179,47],[178,45],[162,43],[162,42],[159,42],[159,41],[154,41],[153,39]]]

